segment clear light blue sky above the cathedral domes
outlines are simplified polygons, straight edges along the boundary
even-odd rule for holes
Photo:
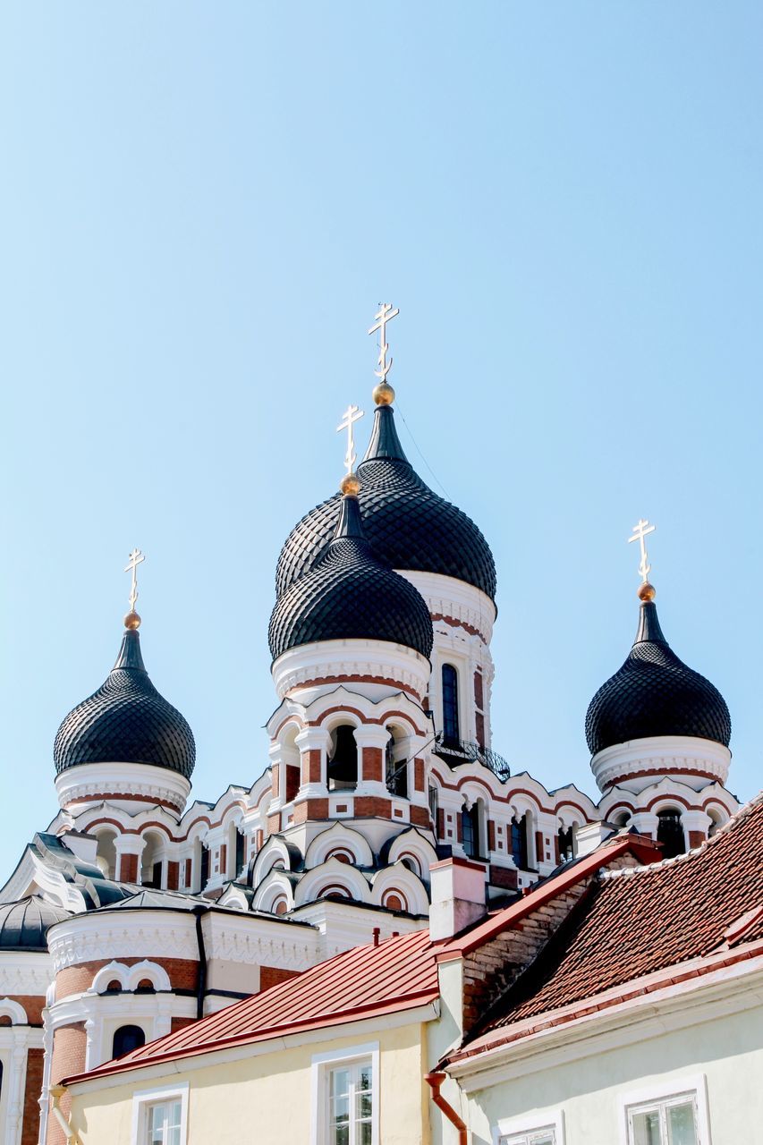
[[[495,552],[496,749],[593,792],[646,515],[757,791],[762,52],[757,0],[0,8],[2,870],[134,545],[195,792],[267,765],[275,562],[382,298],[403,444]]]

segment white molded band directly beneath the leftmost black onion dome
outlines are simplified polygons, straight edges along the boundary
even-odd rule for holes
[[[165,802],[182,813],[190,795],[190,783],[183,775],[151,764],[79,764],[56,775],[55,784],[58,803],[74,815],[104,796],[128,812],[136,811],[141,803],[150,806]],[[124,805],[119,796],[125,797]]]

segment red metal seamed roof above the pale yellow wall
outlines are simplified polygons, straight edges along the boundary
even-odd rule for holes
[[[183,1026],[118,1061],[66,1079],[65,1084],[159,1061],[262,1042],[306,1029],[395,1013],[434,1002],[438,969],[428,930],[359,946],[312,970]]]

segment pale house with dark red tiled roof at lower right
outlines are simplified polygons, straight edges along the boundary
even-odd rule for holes
[[[440,1068],[474,1140],[732,1145],[763,1124],[763,796],[601,872]]]

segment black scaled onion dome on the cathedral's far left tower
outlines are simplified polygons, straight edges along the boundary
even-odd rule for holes
[[[53,748],[56,774],[79,764],[152,764],[190,779],[194,733],[149,679],[137,632],[124,633],[117,663],[97,692],[69,712]]]

